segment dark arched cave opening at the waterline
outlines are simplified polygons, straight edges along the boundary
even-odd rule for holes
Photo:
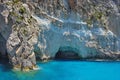
[[[72,48],[60,48],[55,55],[56,60],[79,60],[79,54]]]

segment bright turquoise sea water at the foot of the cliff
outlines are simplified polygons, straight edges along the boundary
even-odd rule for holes
[[[0,80],[120,80],[120,62],[50,61],[38,71],[20,72],[0,64]]]

